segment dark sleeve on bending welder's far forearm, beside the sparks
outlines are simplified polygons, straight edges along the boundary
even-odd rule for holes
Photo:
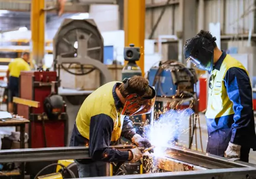
[[[132,140],[135,134],[136,134],[136,129],[133,128],[133,122],[129,119],[128,116],[125,116],[123,119],[121,136],[128,140]]]

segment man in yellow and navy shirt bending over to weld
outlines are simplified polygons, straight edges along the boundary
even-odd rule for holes
[[[88,146],[91,160],[75,160],[79,177],[107,176],[108,162],[137,162],[151,143],[136,134],[130,116],[150,113],[155,90],[140,76],[100,86],[81,105],[72,132],[70,146]],[[110,148],[120,136],[138,148],[121,151]]]

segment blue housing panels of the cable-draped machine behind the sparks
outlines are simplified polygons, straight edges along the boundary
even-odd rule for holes
[[[150,81],[150,85],[153,85],[158,69],[159,67],[153,67],[150,69],[150,72],[148,73],[148,80]],[[161,73],[160,80],[155,84],[155,90],[157,96],[168,97],[176,95],[177,85],[175,85],[173,82],[172,72],[170,72],[170,70],[164,70]]]

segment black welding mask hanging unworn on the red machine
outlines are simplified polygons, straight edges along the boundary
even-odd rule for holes
[[[64,106],[63,98],[59,95],[51,94],[44,101],[45,113],[49,120],[56,119],[62,112]]]

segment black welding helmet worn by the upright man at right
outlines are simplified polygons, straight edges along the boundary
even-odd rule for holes
[[[184,56],[194,63],[198,69],[210,74],[214,66],[214,41],[216,37],[208,39],[196,36],[188,39],[184,45]]]

